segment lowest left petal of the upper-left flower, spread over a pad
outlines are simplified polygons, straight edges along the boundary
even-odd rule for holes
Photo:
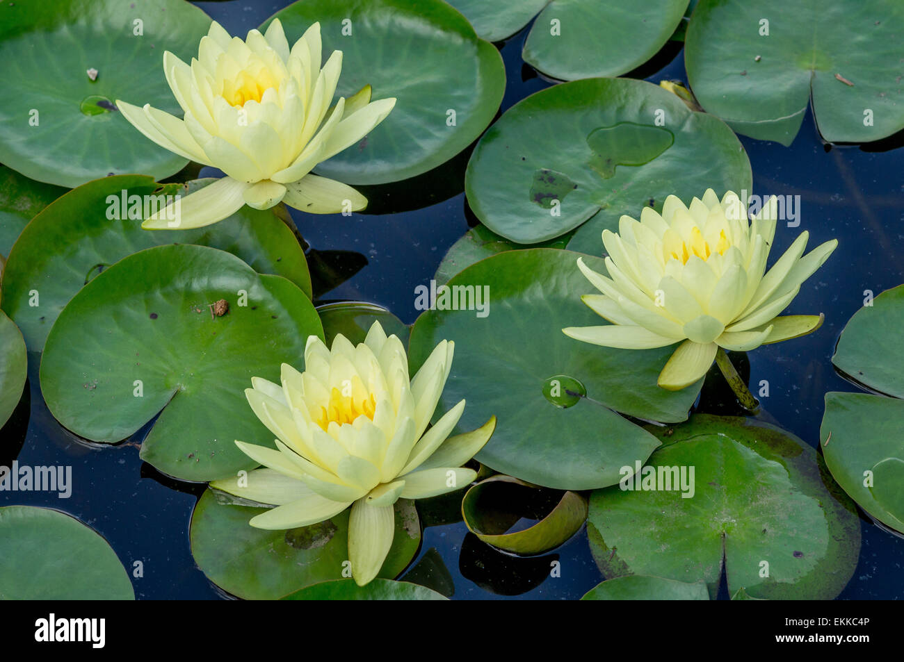
[[[223,177],[200,191],[177,198],[163,210],[158,210],[141,224],[145,229],[202,228],[226,219],[245,204],[242,192],[249,186]]]

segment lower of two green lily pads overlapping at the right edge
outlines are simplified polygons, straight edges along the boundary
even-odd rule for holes
[[[857,504],[904,531],[904,400],[826,393],[820,430],[825,464]],[[831,434],[831,436],[830,436]]]

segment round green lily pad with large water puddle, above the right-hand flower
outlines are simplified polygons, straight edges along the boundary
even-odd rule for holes
[[[598,255],[623,214],[662,210],[670,194],[749,191],[751,174],[717,117],[643,80],[586,79],[506,111],[477,144],[465,187],[477,218],[504,238],[533,244],[580,226],[569,248]]]

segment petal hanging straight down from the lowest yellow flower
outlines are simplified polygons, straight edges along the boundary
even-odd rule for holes
[[[348,556],[355,583],[369,583],[383,565],[395,534],[395,511],[391,506],[372,506],[365,499],[352,504],[348,520]]]

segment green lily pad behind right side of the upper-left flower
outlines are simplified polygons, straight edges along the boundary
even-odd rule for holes
[[[289,42],[320,22],[324,52],[343,51],[336,95],[369,84],[373,98],[398,99],[380,126],[319,164],[318,174],[380,184],[427,172],[474,142],[502,103],[499,51],[441,0],[302,0],[274,17]]]

